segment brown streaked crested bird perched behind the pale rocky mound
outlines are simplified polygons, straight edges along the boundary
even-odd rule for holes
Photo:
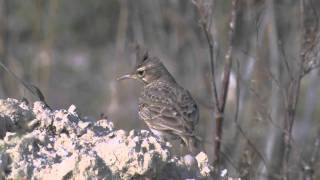
[[[136,46],[134,70],[117,80],[135,79],[143,84],[138,115],[162,140],[180,139],[191,154],[199,152],[196,135],[199,109],[190,92],[180,86],[158,57]]]

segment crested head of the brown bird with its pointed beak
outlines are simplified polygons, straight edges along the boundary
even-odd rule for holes
[[[141,49],[140,46],[137,47],[137,63],[134,70],[129,74],[119,77],[118,80],[128,78],[139,80],[144,84],[149,84],[158,79],[173,80],[160,59],[150,57],[147,50]]]

